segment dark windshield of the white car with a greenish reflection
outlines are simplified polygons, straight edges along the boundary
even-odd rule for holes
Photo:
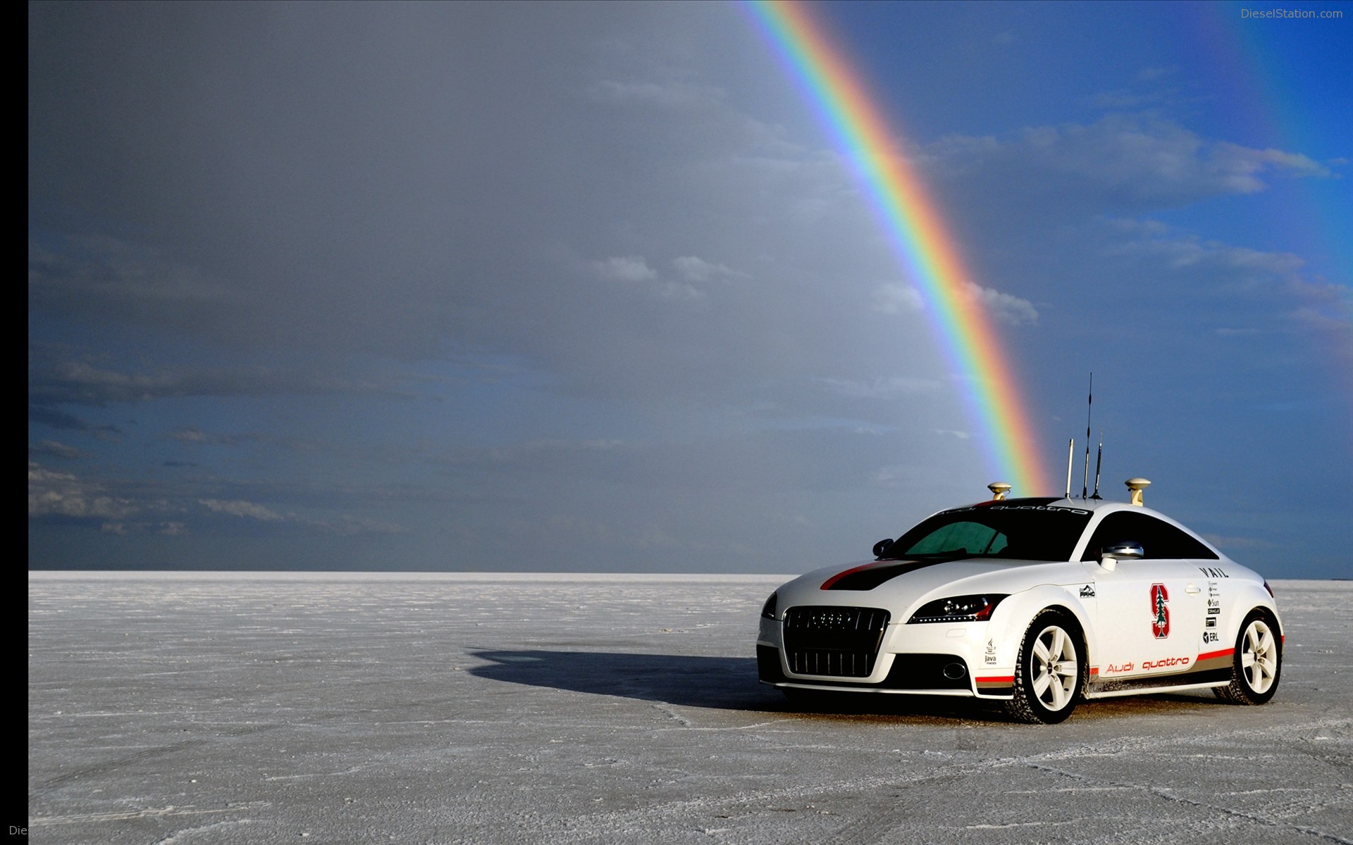
[[[1042,504],[976,504],[943,511],[898,537],[879,556],[900,558],[1072,558],[1089,511]]]

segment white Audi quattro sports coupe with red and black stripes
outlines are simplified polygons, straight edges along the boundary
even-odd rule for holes
[[[1135,484],[1135,485],[1134,485]],[[877,560],[809,572],[770,595],[762,683],[957,695],[1061,722],[1081,698],[1211,687],[1273,698],[1283,625],[1268,583],[1141,506],[996,499],[940,511]]]

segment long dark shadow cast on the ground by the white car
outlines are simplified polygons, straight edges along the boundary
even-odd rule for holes
[[[756,680],[752,657],[633,654],[621,652],[478,650],[487,661],[471,675],[513,684],[620,695],[685,707],[820,717],[931,717],[1005,721],[966,699],[902,695],[824,695],[787,700]]]

